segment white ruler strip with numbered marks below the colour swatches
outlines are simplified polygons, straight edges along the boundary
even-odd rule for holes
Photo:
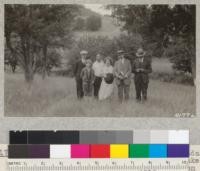
[[[188,171],[188,159],[9,160],[9,171]]]

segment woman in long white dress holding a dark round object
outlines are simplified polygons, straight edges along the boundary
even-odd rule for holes
[[[108,76],[110,77],[108,78]],[[114,76],[113,76],[112,58],[107,57],[105,59],[105,65],[103,67],[103,80],[101,82],[101,87],[99,90],[99,100],[104,100],[111,97],[114,88],[113,80]]]

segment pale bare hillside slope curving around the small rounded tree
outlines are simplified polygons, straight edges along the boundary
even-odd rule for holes
[[[83,18],[87,18],[91,15],[98,15],[102,18],[102,27],[98,31],[77,31],[75,33],[76,39],[82,37],[82,36],[108,36],[110,38],[113,38],[114,36],[118,36],[121,31],[120,27],[114,24],[114,19],[108,15],[103,16],[100,15],[90,9],[87,9],[85,7],[81,8],[80,10],[80,16]]]

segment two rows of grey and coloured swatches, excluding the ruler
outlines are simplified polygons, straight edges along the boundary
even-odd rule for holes
[[[9,158],[188,158],[189,131],[11,131]]]

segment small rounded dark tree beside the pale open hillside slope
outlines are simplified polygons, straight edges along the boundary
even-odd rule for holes
[[[86,20],[86,28],[90,31],[97,31],[101,28],[101,16],[91,15]]]

